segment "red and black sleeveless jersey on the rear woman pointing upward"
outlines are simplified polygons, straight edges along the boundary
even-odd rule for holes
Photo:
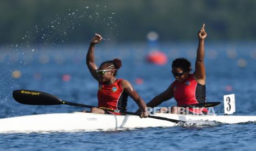
[[[194,74],[189,74],[189,77],[184,82],[175,82],[171,85],[173,97],[177,101],[177,106],[186,104],[203,103],[206,101],[205,85],[201,85],[195,80]],[[189,109],[189,111],[198,113],[198,110]],[[203,112],[208,112],[206,108]]]

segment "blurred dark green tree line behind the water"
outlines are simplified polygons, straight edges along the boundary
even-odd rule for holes
[[[1,0],[0,43],[83,43],[95,32],[118,42],[256,39],[253,0]]]

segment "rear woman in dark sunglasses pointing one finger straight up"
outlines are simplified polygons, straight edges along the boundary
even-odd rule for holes
[[[205,24],[198,32],[199,44],[197,49],[197,59],[195,61],[195,71],[192,71],[191,63],[184,58],[175,59],[172,62],[172,74],[175,77],[175,81],[160,95],[154,97],[148,104],[148,107],[159,106],[164,101],[174,97],[177,101],[177,107],[171,108],[173,114],[195,113],[195,114],[207,114],[208,110],[204,109],[192,109],[189,108],[188,112],[184,111],[181,106],[187,104],[203,103],[206,101],[205,96],[205,65],[204,65],[204,40],[207,36]]]

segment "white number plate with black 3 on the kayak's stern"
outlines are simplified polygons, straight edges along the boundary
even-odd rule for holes
[[[236,112],[235,94],[224,95],[224,113],[233,114]]]

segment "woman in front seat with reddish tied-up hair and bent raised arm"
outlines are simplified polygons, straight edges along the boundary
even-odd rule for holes
[[[98,82],[99,90],[97,92],[98,107],[91,108],[91,113],[107,114],[103,108],[118,109],[126,111],[127,97],[130,96],[138,104],[141,118],[148,117],[146,104],[138,93],[133,89],[132,84],[124,79],[116,79],[117,70],[121,67],[122,63],[119,59],[102,62],[100,67],[97,68],[94,61],[94,45],[101,42],[102,37],[99,34],[91,39],[91,43],[86,55],[86,64],[89,71]],[[113,114],[119,114],[114,113]]]

